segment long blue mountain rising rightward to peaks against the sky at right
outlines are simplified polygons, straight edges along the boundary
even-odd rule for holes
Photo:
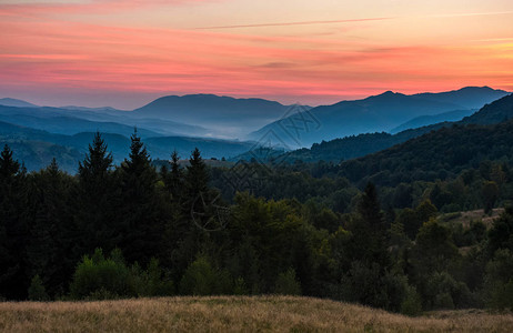
[[[479,98],[457,104],[462,97],[475,94]],[[308,147],[314,142],[355,135],[391,131],[416,117],[436,115],[454,110],[479,109],[485,102],[507,93],[485,88],[465,88],[443,93],[405,95],[388,91],[385,93],[356,101],[342,101],[333,105],[316,107],[301,114],[273,122],[250,134],[259,140],[272,132],[290,147]],[[440,97],[440,99],[437,99]],[[479,104],[481,103],[482,104]],[[304,120],[316,122],[314,129]],[[293,138],[295,137],[295,138]]]

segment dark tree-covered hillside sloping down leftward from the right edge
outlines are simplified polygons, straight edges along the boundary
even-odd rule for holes
[[[342,175],[352,181],[396,185],[416,180],[447,179],[484,160],[513,159],[513,121],[496,125],[453,125],[405,143],[346,161]]]

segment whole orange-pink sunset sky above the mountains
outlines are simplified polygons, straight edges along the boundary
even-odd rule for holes
[[[513,91],[513,1],[0,0],[0,98],[318,105],[466,85]]]

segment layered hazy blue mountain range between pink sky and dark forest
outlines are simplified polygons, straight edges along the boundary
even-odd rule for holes
[[[168,159],[174,149],[187,158],[198,147],[205,158],[238,160],[248,158],[244,152],[254,151],[255,147],[283,154],[291,148],[319,142],[311,149],[286,153],[286,159],[340,161],[447,127],[452,124],[447,121],[460,121],[474,109],[506,94],[486,87],[414,95],[385,92],[316,108],[195,94],[164,97],[133,111],[109,107],[50,108],[0,99],[0,144],[17,148],[17,157],[29,170],[43,168],[56,157],[69,172],[76,172],[77,163],[83,158],[95,131],[103,133],[115,163],[120,163],[128,154],[129,137],[134,128],[154,159]],[[507,107],[501,110],[496,104],[492,109],[485,107],[461,123],[496,123],[497,119],[510,117]],[[265,123],[244,137],[243,132],[250,133],[251,129]],[[380,133],[368,133],[373,129]],[[348,133],[358,135],[348,137]],[[329,141],[333,138],[343,139]]]

